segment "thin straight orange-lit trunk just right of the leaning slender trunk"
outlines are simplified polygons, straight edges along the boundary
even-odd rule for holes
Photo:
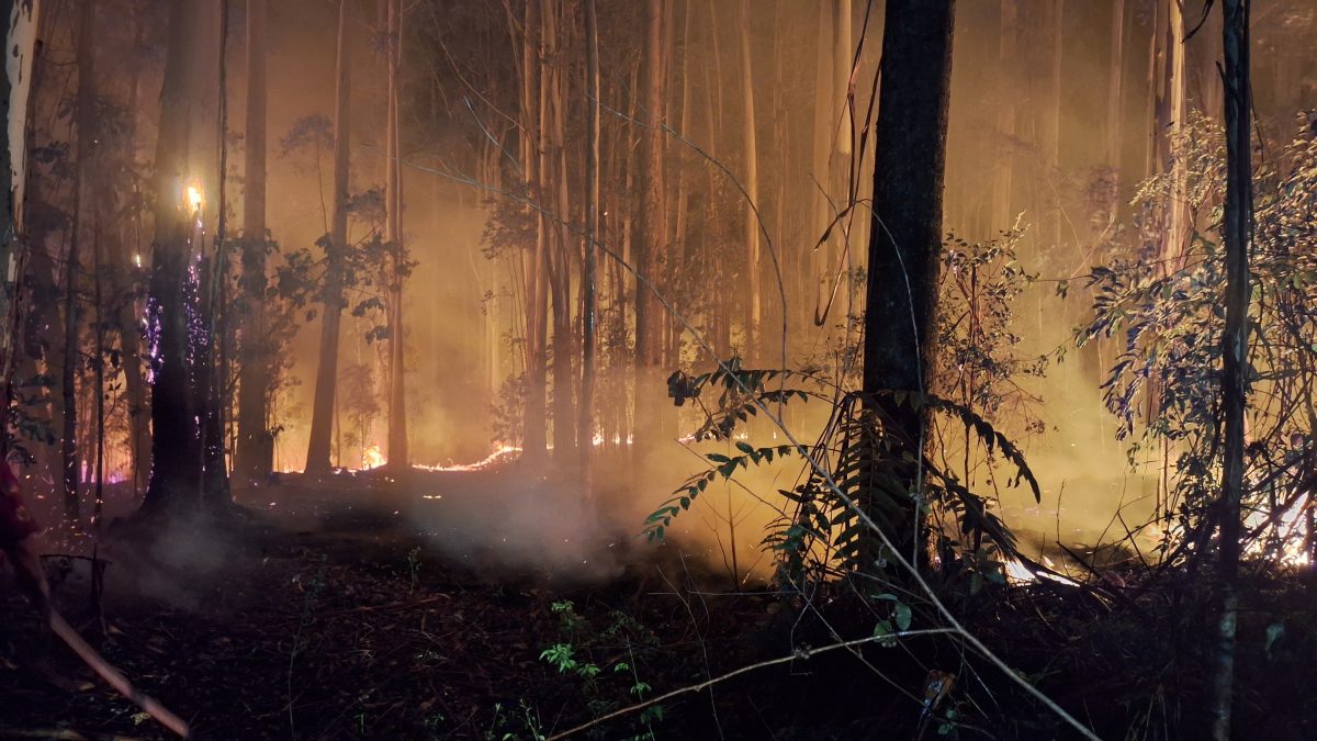
[[[392,269],[389,276],[389,467],[407,471],[407,369],[403,361],[403,278],[407,273],[403,249],[403,174],[402,146],[398,136],[398,84],[402,65],[402,0],[389,1],[389,123],[385,166],[385,204],[389,210],[386,241],[390,244]]]

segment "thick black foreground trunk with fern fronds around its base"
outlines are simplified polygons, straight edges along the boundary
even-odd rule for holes
[[[864,392],[893,426],[890,455],[897,460],[922,455],[926,414],[898,403],[890,392],[922,397],[932,370],[954,7],[955,0],[888,0],[882,30]],[[911,461],[898,469],[911,493],[905,521],[915,527],[897,526],[888,535],[905,550],[922,541],[923,526],[917,467]]]

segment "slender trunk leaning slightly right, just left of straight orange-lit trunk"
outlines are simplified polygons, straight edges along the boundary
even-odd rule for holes
[[[338,382],[338,324],[342,319],[342,272],[348,254],[348,137],[352,134],[352,57],[348,45],[348,0],[338,3],[337,83],[335,87],[333,132],[333,225],[324,243],[325,277],[320,303],[320,357],[316,365],[316,393],[311,409],[311,439],[307,444],[307,473],[329,471],[329,443],[333,432],[335,388]]]

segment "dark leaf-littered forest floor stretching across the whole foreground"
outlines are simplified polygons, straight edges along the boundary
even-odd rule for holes
[[[964,725],[950,737],[1069,737],[950,641],[805,657],[836,636],[872,636],[872,610],[732,591],[672,542],[632,530],[562,551],[491,547],[503,541],[493,533],[524,533],[508,523],[525,498],[506,492],[533,485],[515,471],[407,485],[379,472],[291,476],[238,492],[244,510],[221,521],[112,523],[100,591],[90,560],[51,558],[47,570],[71,622],[196,738],[552,737],[774,659],[788,661],[579,737],[911,738],[930,668],[961,678]],[[557,506],[535,513],[548,539],[577,537],[553,530]],[[43,633],[8,581],[0,589],[0,738],[167,737]],[[1043,585],[959,612],[1102,737],[1139,723],[1139,737],[1193,737],[1206,715],[1188,699],[1201,696],[1210,653],[1172,647],[1210,626],[1168,621],[1187,608],[1159,593],[1131,585],[1127,609],[1110,593]],[[1274,630],[1276,614],[1287,632],[1242,654],[1241,701],[1267,737],[1312,737],[1317,707],[1296,680],[1317,655],[1312,599],[1281,589],[1270,603],[1245,634]]]

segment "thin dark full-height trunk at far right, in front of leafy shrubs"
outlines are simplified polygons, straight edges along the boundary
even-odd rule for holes
[[[1234,695],[1235,624],[1239,610],[1239,509],[1243,498],[1243,415],[1249,393],[1249,248],[1252,241],[1249,1],[1225,0],[1223,12],[1226,203],[1222,241],[1226,248],[1226,331],[1222,338],[1225,377],[1221,382],[1225,415],[1220,539],[1221,620],[1212,728],[1213,738],[1217,741],[1230,738],[1230,705]]]

